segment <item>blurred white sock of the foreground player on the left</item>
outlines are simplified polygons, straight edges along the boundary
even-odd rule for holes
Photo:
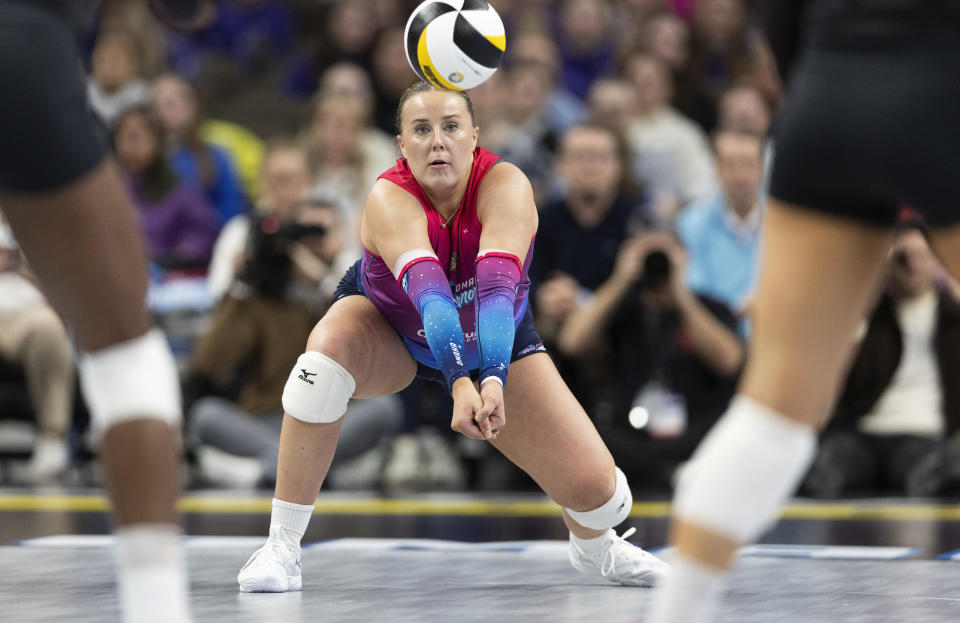
[[[114,560],[120,610],[127,623],[189,623],[190,599],[180,527],[117,528]]]

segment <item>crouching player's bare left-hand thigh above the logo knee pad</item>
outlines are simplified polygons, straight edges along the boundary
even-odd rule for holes
[[[413,380],[417,364],[399,334],[366,297],[336,301],[307,340],[307,350],[327,355],[353,376],[355,398],[397,392]]]

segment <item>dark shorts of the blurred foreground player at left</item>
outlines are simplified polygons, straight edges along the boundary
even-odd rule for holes
[[[55,190],[107,153],[66,20],[0,0],[0,189]]]

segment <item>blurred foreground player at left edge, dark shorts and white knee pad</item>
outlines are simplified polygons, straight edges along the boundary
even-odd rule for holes
[[[0,0],[0,205],[82,351],[124,621],[185,623],[177,370],[146,309],[133,205],[87,106],[77,36],[92,5]],[[151,5],[186,24],[204,3]]]

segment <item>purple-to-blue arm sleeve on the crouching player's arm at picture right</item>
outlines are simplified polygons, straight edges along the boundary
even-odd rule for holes
[[[503,386],[513,352],[513,307],[523,273],[520,258],[506,251],[477,255],[477,346],[480,383],[494,378]]]

